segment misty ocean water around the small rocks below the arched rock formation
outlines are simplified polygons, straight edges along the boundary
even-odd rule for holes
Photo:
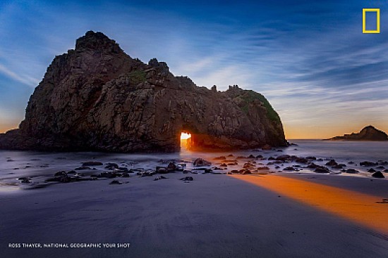
[[[258,166],[267,166],[270,162],[268,157],[277,157],[278,155],[296,155],[298,157],[314,156],[322,158],[322,161],[315,161],[317,165],[325,165],[327,160],[334,159],[338,163],[346,165],[346,169],[357,169],[358,174],[347,174],[341,172],[341,169],[332,169],[334,176],[367,176],[370,167],[361,167],[360,162],[381,162],[388,161],[388,142],[351,142],[351,141],[319,141],[319,140],[294,140],[291,143],[296,143],[296,146],[288,148],[277,148],[274,150],[244,150],[237,152],[218,152],[218,153],[199,153],[190,150],[182,149],[180,153],[40,153],[32,151],[8,151],[0,150],[0,190],[9,191],[10,189],[24,188],[25,184],[20,183],[18,178],[28,176],[31,178],[32,185],[42,184],[44,180],[52,177],[54,173],[59,171],[70,171],[82,166],[82,162],[99,161],[102,163],[114,162],[121,167],[128,169],[155,169],[156,166],[168,164],[170,160],[185,164],[186,169],[193,169],[193,160],[202,157],[213,162],[214,167],[220,165],[213,158],[217,156],[226,156],[233,154],[234,158],[238,156],[262,155],[264,160],[255,160]],[[229,159],[232,159],[229,158]],[[239,161],[239,165],[229,166],[223,172],[226,173],[231,169],[240,169],[247,162]],[[354,164],[348,164],[354,162]],[[279,165],[268,165],[272,172],[275,173],[314,173],[313,170],[303,168],[298,172],[285,172],[284,167],[296,165],[289,163]],[[300,164],[299,164],[300,165]],[[383,165],[384,169],[373,167],[376,170],[384,171],[388,169],[388,165]],[[104,166],[91,167],[87,171],[79,171],[80,173],[89,176],[90,174],[99,174],[107,169]],[[388,173],[383,172],[386,178]],[[131,174],[135,176],[135,174]],[[387,179],[382,179],[387,180]]]

